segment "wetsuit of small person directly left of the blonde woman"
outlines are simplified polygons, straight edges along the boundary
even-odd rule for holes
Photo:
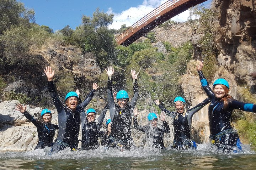
[[[154,128],[152,125],[147,125],[147,126],[140,126],[138,125],[138,120],[137,116],[133,117],[133,125],[134,128],[137,130],[140,130],[142,132],[145,132],[148,136],[148,138],[153,138],[153,145],[152,147],[154,148],[161,148],[164,149],[164,132],[165,133],[170,133],[170,127],[167,124],[166,121],[163,121],[162,128]]]

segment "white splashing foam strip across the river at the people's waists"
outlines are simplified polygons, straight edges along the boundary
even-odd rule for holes
[[[193,155],[248,155],[255,154],[251,151],[249,145],[243,145],[242,151],[238,153],[223,153],[218,150],[217,147],[212,147],[210,144],[199,144],[197,151],[195,150],[173,150],[171,146],[166,149],[158,149],[152,147],[137,147],[130,151],[120,151],[117,148],[110,148],[106,150],[105,147],[98,147],[94,151],[70,151],[65,149],[58,153],[51,153],[50,148],[36,149],[26,152],[0,152],[1,159],[27,159],[27,160],[47,160],[47,159],[94,159],[94,158],[149,158],[149,157],[161,157],[172,154],[189,154]]]

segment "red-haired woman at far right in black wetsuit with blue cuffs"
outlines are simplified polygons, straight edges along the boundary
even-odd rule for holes
[[[228,95],[229,84],[225,79],[217,79],[213,83],[213,90],[203,75],[203,62],[197,66],[201,85],[210,99],[208,108],[210,139],[223,152],[237,152],[241,149],[241,142],[236,130],[230,124],[233,109],[240,109],[247,112],[256,112],[256,105],[243,103]]]

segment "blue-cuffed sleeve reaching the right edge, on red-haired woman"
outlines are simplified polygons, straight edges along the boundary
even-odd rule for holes
[[[239,109],[246,112],[256,113],[256,105],[252,103],[239,102],[235,99],[228,100],[228,107]]]

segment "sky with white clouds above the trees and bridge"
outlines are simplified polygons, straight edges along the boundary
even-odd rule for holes
[[[36,23],[52,28],[54,31],[69,25],[75,29],[81,24],[82,15],[92,16],[97,7],[100,11],[114,13],[110,28],[119,29],[122,24],[131,26],[167,0],[17,0],[26,8],[36,12]],[[204,2],[209,7],[212,0]],[[174,17],[175,21],[184,22],[188,11]]]

